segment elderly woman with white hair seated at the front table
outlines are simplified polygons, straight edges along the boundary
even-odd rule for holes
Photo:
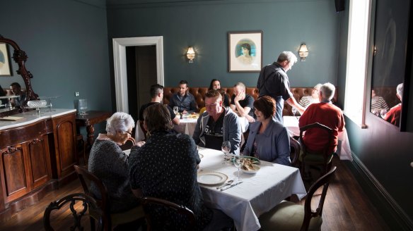
[[[107,119],[107,134],[98,135],[89,156],[88,170],[99,177],[107,187],[110,211],[114,213],[127,211],[139,204],[129,186],[128,156],[120,149],[120,145],[132,138],[134,126],[134,119],[129,114],[114,113]],[[142,144],[144,142],[139,142],[132,149]],[[99,196],[97,191],[93,193]]]

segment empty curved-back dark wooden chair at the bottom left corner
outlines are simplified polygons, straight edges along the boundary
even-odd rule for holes
[[[81,202],[81,204],[78,204],[78,202]],[[69,204],[69,208],[71,211],[71,215],[74,218],[74,225],[69,227],[70,230],[83,230],[84,227],[82,226],[82,218],[83,216],[88,214],[86,211],[89,211],[89,214],[95,214],[94,218],[98,221],[98,226],[96,229],[93,227],[91,230],[103,230],[103,227],[105,225],[103,224],[103,211],[102,209],[98,206],[97,202],[93,197],[88,196],[83,193],[75,193],[75,194],[69,194],[67,196],[64,196],[62,199],[59,199],[57,201],[53,201],[50,203],[49,206],[47,206],[45,213],[43,214],[43,227],[45,227],[46,231],[54,231],[54,228],[50,224],[50,215],[52,211],[54,210],[59,210],[66,204]],[[66,216],[66,214],[62,214],[62,216]],[[93,219],[93,218],[91,218]],[[57,226],[57,225],[55,225]],[[62,230],[62,227],[56,227],[57,230]],[[66,227],[66,230],[69,230]],[[88,229],[86,229],[88,230]]]

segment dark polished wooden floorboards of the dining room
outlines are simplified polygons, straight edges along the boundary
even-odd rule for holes
[[[333,159],[333,165],[337,166],[337,172],[327,192],[322,212],[322,230],[390,230],[382,223],[383,219],[347,167],[336,158]],[[14,214],[10,220],[0,224],[0,230],[44,230],[42,217],[46,206],[51,201],[74,192],[82,192],[77,180],[55,192],[50,192],[38,204]],[[303,204],[303,201],[298,203]],[[64,227],[59,230],[69,230],[70,222],[70,217],[59,221],[61,227]]]

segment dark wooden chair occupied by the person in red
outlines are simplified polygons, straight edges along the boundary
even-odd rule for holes
[[[328,139],[325,140],[324,149],[313,151],[308,150],[306,143],[303,141],[304,132],[310,129],[318,129],[320,132],[327,132]],[[331,146],[333,144],[333,135],[332,135],[332,128],[322,125],[320,123],[312,123],[310,125],[306,125],[300,127],[300,142],[301,142],[301,149],[303,150],[302,154],[299,157],[301,162],[301,175],[306,173],[306,165],[309,166],[322,166],[322,174],[325,174],[330,170],[332,165],[332,156],[334,153],[330,152]]]

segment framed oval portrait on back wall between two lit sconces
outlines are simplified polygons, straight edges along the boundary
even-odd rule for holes
[[[228,32],[228,72],[260,72],[262,30]]]

